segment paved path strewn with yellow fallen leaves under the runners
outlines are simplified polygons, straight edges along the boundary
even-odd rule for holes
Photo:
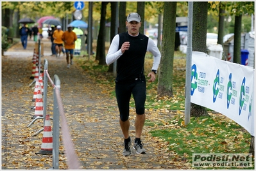
[[[150,127],[144,127],[144,145],[147,154],[134,154],[124,157],[123,135],[119,128],[117,105],[114,98],[103,93],[96,82],[90,80],[87,73],[74,59],[71,68],[67,68],[65,57],[56,58],[51,54],[49,41],[44,43],[44,57],[49,66],[51,78],[58,75],[61,82],[61,96],[69,131],[83,169],[182,169],[183,163],[173,161],[175,154],[168,151],[167,144],[150,136]],[[35,43],[29,41],[23,50],[17,43],[2,57],[2,168],[3,169],[48,169],[52,167],[51,155],[36,155],[42,144],[42,133],[32,135],[42,128],[38,120],[30,128],[34,114],[30,109],[34,102],[33,85],[30,80]],[[49,85],[51,85],[48,82]],[[131,109],[131,113],[134,110]],[[48,87],[47,113],[53,116],[53,87]],[[134,138],[134,115],[131,114],[131,136]],[[153,117],[151,115],[151,117]],[[165,115],[155,114],[158,119]],[[52,125],[51,121],[51,125]],[[64,152],[60,135],[60,152]],[[67,168],[64,154],[60,154],[60,168]]]

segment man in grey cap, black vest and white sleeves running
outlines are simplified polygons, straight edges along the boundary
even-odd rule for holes
[[[133,149],[137,154],[144,154],[146,150],[141,142],[142,128],[145,122],[145,101],[146,101],[146,78],[144,75],[144,59],[146,52],[153,54],[153,66],[148,73],[148,82],[154,82],[161,54],[151,38],[139,33],[141,17],[138,13],[130,13],[126,20],[126,33],[114,36],[106,63],[111,64],[117,61],[117,77],[115,78],[115,95],[119,108],[119,124],[124,135],[124,156],[130,156],[131,138],[129,135],[129,105],[133,94],[135,100],[135,142]]]

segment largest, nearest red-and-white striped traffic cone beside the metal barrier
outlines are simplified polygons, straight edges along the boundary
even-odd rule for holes
[[[35,154],[53,154],[53,134],[51,133],[51,123],[49,114],[46,114],[41,150],[39,152],[36,152]]]

